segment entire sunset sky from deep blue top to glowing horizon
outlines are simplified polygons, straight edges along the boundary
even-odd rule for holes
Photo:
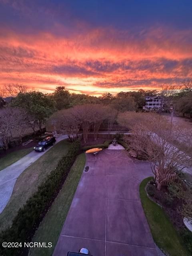
[[[192,78],[192,0],[0,0],[0,87],[101,95]]]

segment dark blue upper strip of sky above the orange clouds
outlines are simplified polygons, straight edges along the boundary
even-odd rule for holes
[[[150,26],[192,29],[191,0],[0,0],[0,24],[15,30],[54,30],[55,22],[76,28],[113,27],[139,31]]]

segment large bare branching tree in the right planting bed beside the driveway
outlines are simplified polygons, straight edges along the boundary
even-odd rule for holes
[[[190,133],[182,133],[178,126],[171,129],[168,119],[153,113],[125,112],[118,116],[118,122],[131,128],[131,136],[126,138],[131,150],[149,161],[157,189],[165,182],[176,180],[175,170],[182,171],[192,166],[186,154],[186,138],[192,140]],[[172,142],[179,141],[177,148]]]

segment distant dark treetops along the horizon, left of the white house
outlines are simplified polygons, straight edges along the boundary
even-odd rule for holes
[[[56,110],[61,110],[64,108],[70,108],[72,106],[80,105],[80,104],[104,104],[111,105],[115,109],[120,111],[125,110],[137,110],[142,109],[145,102],[145,96],[155,96],[158,92],[156,90],[138,90],[137,92],[119,92],[115,96],[110,94],[109,92],[102,94],[100,97],[90,96],[88,94],[75,94],[70,93],[65,89],[64,86],[56,87],[56,90],[51,94],[43,94],[49,100],[52,100],[52,104]],[[42,93],[35,91],[28,91],[26,86],[22,84],[8,84],[2,88],[0,92],[0,107],[6,104],[5,98],[8,96],[9,100],[12,98],[14,100],[14,105],[26,105],[22,103],[29,101],[29,98],[43,98]],[[17,98],[17,102],[16,102]],[[23,107],[23,106],[22,106]]]

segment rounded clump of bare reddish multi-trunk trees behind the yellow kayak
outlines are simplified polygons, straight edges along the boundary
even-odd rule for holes
[[[101,104],[84,104],[55,112],[49,118],[48,124],[54,125],[57,131],[66,132],[70,140],[76,140],[81,127],[86,142],[91,127],[96,140],[102,122],[108,119],[108,122],[113,124],[114,116],[116,110],[112,108]]]

